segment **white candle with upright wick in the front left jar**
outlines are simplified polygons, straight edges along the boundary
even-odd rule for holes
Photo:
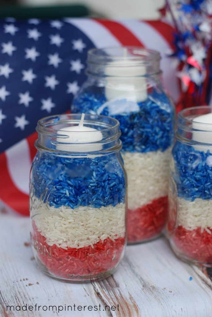
[[[93,142],[101,141],[102,133],[97,129],[84,126],[84,117],[85,113],[82,113],[78,126],[67,126],[57,132],[58,134],[68,137],[57,138],[57,142],[61,142],[61,145],[57,145],[56,149],[70,152],[93,152],[102,149],[101,144],[91,144]],[[67,144],[65,145],[64,143]]]

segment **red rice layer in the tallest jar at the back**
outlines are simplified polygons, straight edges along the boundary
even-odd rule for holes
[[[164,229],[167,217],[167,197],[154,199],[151,204],[128,210],[127,242],[142,242],[156,238]]]

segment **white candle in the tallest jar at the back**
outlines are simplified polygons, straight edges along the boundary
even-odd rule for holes
[[[140,102],[147,99],[146,68],[136,60],[123,56],[123,60],[112,61],[105,69],[105,96],[107,100],[128,99]]]

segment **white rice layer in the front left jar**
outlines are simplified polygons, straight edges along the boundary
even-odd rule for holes
[[[110,238],[112,241],[125,236],[125,204],[115,207],[92,208],[80,206],[74,210],[42,204],[32,210],[38,231],[49,246],[56,244],[63,249],[83,248]]]

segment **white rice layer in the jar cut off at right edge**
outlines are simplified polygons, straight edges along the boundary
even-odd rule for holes
[[[209,234],[212,231],[212,199],[196,198],[194,201],[178,197],[177,224],[187,230],[201,227]],[[209,229],[208,229],[209,228]],[[211,230],[211,231],[210,231]]]

